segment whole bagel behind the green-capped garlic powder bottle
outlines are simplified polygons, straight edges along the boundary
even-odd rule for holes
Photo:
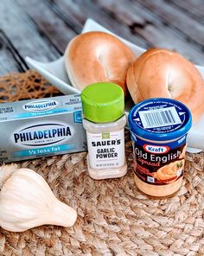
[[[77,35],[68,43],[65,67],[72,85],[82,91],[87,85],[108,81],[127,93],[126,74],[136,60],[124,42],[104,32]]]

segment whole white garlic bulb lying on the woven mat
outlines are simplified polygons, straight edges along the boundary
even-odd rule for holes
[[[14,232],[44,224],[70,227],[76,218],[76,211],[60,202],[35,171],[0,168],[0,227]]]

